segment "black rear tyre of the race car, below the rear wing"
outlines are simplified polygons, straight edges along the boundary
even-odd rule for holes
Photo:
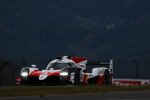
[[[112,85],[111,75],[109,70],[105,70],[104,72],[104,85],[109,86]]]

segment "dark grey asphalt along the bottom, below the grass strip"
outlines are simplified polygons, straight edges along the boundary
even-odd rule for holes
[[[0,97],[0,100],[150,100],[150,91]]]

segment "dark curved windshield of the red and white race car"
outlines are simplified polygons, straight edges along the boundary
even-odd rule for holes
[[[76,67],[76,65],[74,63],[51,63],[47,66],[47,70],[49,70],[50,68],[53,68],[54,70],[60,70],[63,68],[67,68],[67,67]]]

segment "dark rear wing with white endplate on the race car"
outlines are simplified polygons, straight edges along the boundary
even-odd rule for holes
[[[87,64],[88,67],[94,68],[94,67],[107,67],[110,69],[111,73],[113,73],[113,60],[100,62],[100,61],[88,61]]]

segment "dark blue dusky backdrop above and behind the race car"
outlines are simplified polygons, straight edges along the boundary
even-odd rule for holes
[[[134,77],[134,60],[149,68],[149,10],[141,0],[0,1],[0,59],[46,66],[62,55],[113,58]]]

